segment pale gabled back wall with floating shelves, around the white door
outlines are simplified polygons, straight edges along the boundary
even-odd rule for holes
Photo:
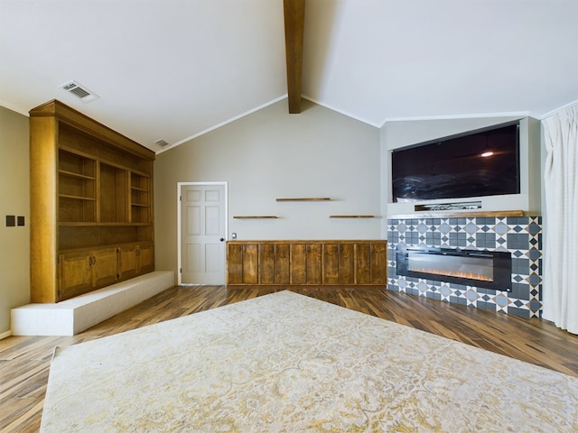
[[[379,239],[379,130],[303,101],[286,100],[157,155],[154,162],[156,267],[177,265],[177,182],[228,182],[228,238]],[[330,202],[275,198],[329,197]],[[330,215],[375,215],[334,219]],[[239,220],[234,216],[279,219]]]

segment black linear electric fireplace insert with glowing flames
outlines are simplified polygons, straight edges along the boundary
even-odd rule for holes
[[[408,277],[512,290],[512,256],[509,252],[398,244],[396,272]]]

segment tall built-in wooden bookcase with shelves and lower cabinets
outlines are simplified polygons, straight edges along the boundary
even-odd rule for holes
[[[32,302],[154,271],[153,162],[154,152],[59,101],[31,110]],[[119,267],[121,244],[135,248]]]

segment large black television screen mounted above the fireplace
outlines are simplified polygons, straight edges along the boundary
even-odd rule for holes
[[[393,201],[519,194],[518,124],[391,153]]]

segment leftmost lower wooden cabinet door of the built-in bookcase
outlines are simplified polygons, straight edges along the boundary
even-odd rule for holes
[[[92,254],[62,253],[59,256],[59,290],[57,301],[74,298],[92,290]]]

